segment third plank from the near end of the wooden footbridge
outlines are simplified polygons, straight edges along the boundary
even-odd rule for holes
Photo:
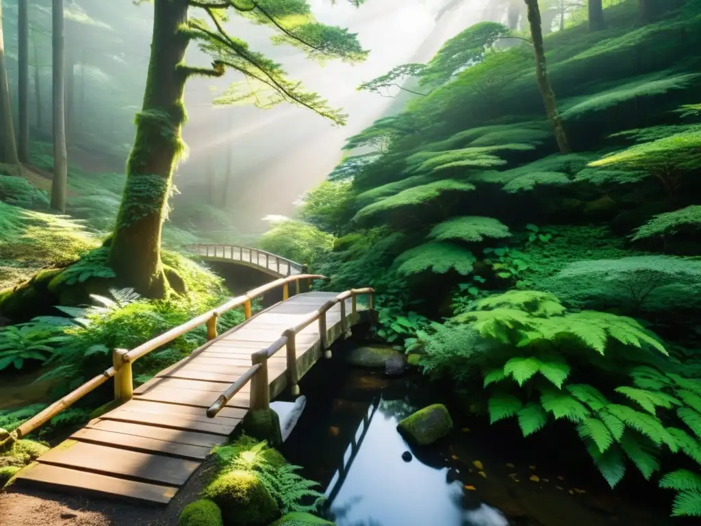
[[[139,451],[142,453],[160,453],[168,457],[178,457],[187,460],[204,460],[210,454],[210,447],[200,445],[185,445],[177,442],[166,442],[145,436],[125,435],[102,431],[100,429],[79,429],[69,438],[80,442],[121,447],[125,450]]]

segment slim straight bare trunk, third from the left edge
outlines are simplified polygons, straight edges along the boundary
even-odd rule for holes
[[[68,153],[66,151],[65,76],[64,62],[66,35],[64,31],[63,0],[51,3],[53,39],[53,182],[51,183],[51,208],[66,211],[66,187],[68,184]]]

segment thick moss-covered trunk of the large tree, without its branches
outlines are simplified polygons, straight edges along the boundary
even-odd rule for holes
[[[187,0],[155,0],[154,33],[142,111],[136,116],[127,182],[109,250],[118,280],[148,297],[163,297],[168,281],[161,264],[161,228],[172,173],[182,153],[182,101],[189,43]]]

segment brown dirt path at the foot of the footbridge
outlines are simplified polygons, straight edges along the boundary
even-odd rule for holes
[[[11,486],[0,492],[0,524],[12,526],[177,526],[182,508],[210,480],[208,460],[165,507]]]

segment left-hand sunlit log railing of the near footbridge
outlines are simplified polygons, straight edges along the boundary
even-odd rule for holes
[[[48,422],[49,419],[55,417],[62,410],[67,409],[78,400],[86,396],[86,394],[95,390],[97,387],[107,382],[114,377],[114,398],[115,400],[127,401],[131,400],[134,392],[134,384],[132,377],[132,363],[138,358],[146,356],[151,351],[172,342],[174,339],[184,335],[186,332],[198,328],[200,325],[207,326],[207,340],[212,340],[217,337],[217,319],[223,313],[243,306],[243,312],[246,319],[251,317],[251,301],[269,290],[278,287],[283,288],[283,300],[290,296],[290,283],[295,283],[294,290],[299,290],[299,281],[306,280],[308,285],[315,279],[327,279],[326,276],[320,274],[294,274],[285,278],[280,278],[271,283],[266,283],[260,287],[249,290],[244,295],[229,299],[228,302],[218,306],[215,309],[207,311],[190,321],[186,321],[182,325],[178,325],[162,335],[159,335],[148,342],[141,344],[130,351],[126,349],[114,349],[112,352],[112,367],[104,370],[102,374],[93,377],[79,388],[71,391],[66,396],[57,402],[49,405],[43,411],[34,415],[34,417],[21,424],[11,434],[11,440],[18,440],[29,433],[39,428],[39,426]],[[310,287],[311,288],[311,287]]]

